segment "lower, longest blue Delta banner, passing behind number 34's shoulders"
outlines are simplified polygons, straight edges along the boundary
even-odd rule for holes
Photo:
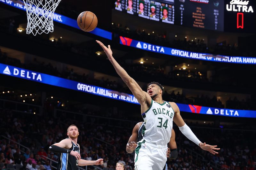
[[[133,104],[138,104],[138,100],[132,95],[122,92],[117,92],[105,88],[101,88],[94,85],[88,85],[73,80],[68,80],[65,78],[59,78],[51,76],[44,73],[39,73],[31,70],[21,69],[18,67],[6,65],[0,63],[0,74],[12,76],[16,78],[22,78],[26,80],[31,80],[39,83],[44,83],[47,85],[54,85],[57,87],[63,87],[71,90],[86,92],[102,97],[107,97],[110,99],[121,100]],[[195,114],[205,114],[205,115],[220,115],[220,116],[230,116],[230,117],[251,117],[256,118],[255,110],[235,110],[235,109],[223,109],[214,107],[204,107],[188,104],[177,103],[180,111],[189,112]]]

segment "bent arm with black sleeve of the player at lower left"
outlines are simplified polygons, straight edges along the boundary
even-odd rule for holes
[[[63,139],[59,143],[53,144],[49,147],[49,150],[51,152],[56,152],[56,153],[69,153],[70,155],[73,155],[76,157],[76,159],[81,159],[81,156],[78,152],[71,151],[68,148],[72,147],[72,142],[70,139]]]

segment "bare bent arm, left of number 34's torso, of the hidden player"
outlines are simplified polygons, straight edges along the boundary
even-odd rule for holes
[[[126,152],[132,153],[135,148],[137,147],[137,140],[139,136],[139,129],[143,122],[137,123],[133,130],[132,130],[132,136],[129,138],[128,143],[126,144]]]

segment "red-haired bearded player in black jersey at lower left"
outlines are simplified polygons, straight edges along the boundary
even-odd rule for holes
[[[103,164],[103,159],[95,161],[81,159],[80,146],[77,144],[78,128],[76,125],[70,125],[67,131],[68,138],[49,147],[50,151],[60,153],[57,170],[75,170],[77,166]]]

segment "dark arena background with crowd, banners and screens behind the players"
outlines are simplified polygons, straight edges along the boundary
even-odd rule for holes
[[[99,40],[144,91],[161,83],[198,139],[221,148],[202,150],[173,123],[178,157],[168,170],[256,169],[256,4],[243,2],[62,0],[54,31],[34,36],[24,2],[0,0],[0,168],[56,169],[48,148],[75,124],[81,158],[104,159],[78,169],[134,170],[125,148],[140,105]],[[92,32],[77,26],[83,11],[98,18]]]

